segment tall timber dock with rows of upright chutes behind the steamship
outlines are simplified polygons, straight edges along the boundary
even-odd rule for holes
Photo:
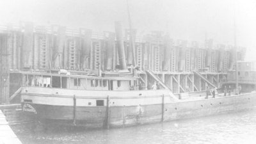
[[[227,72],[236,67],[236,51],[230,45],[214,45],[212,40],[205,40],[205,44],[173,40],[161,31],[141,36],[134,29],[125,30],[124,50],[127,68],[138,68],[144,88],[155,81],[147,74],[150,70],[173,93],[218,87]],[[244,50],[239,47],[238,60],[244,59]],[[113,32],[35,26],[31,22],[1,25],[0,103],[10,102],[13,93],[17,94],[22,72],[67,69],[97,75],[119,70],[120,62]]]

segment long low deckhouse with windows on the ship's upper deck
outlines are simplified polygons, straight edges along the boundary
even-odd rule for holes
[[[139,77],[97,77],[67,74],[22,73],[23,86],[76,90],[137,90]]]

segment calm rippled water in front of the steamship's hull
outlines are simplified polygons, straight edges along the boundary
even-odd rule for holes
[[[256,143],[256,110],[109,130],[13,127],[22,143]]]

